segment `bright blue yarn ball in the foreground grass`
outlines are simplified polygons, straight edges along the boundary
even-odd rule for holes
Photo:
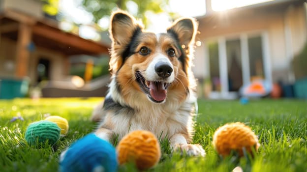
[[[61,154],[61,172],[116,172],[115,148],[91,133],[73,143]]]

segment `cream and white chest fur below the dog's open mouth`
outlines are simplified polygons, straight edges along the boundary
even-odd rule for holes
[[[111,89],[112,91],[112,89]],[[114,93],[116,100],[116,93]],[[146,101],[146,100],[144,100]],[[182,105],[176,100],[167,100],[164,104],[144,104],[143,108],[132,114],[125,112],[114,115],[107,113],[101,125],[108,125],[112,122],[113,132],[121,139],[127,133],[134,130],[148,130],[157,137],[170,137],[179,131],[183,126],[191,126],[192,131],[193,103],[196,98],[190,97]]]

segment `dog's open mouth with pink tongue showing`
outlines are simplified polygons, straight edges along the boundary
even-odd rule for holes
[[[141,72],[135,73],[136,81],[144,93],[155,103],[162,103],[166,99],[167,88],[169,83],[161,81],[146,81]]]

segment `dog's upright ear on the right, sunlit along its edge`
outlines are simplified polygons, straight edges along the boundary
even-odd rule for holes
[[[178,38],[180,46],[187,48],[194,43],[197,23],[193,18],[178,19],[167,29],[167,32],[174,34]]]

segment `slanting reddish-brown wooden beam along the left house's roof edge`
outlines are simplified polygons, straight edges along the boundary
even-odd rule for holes
[[[64,44],[67,47],[75,47],[90,54],[108,53],[108,48],[100,43],[83,39],[72,33],[63,32],[43,25],[33,26],[33,34]],[[48,41],[48,40],[46,40]],[[67,48],[69,51],[69,48]]]

